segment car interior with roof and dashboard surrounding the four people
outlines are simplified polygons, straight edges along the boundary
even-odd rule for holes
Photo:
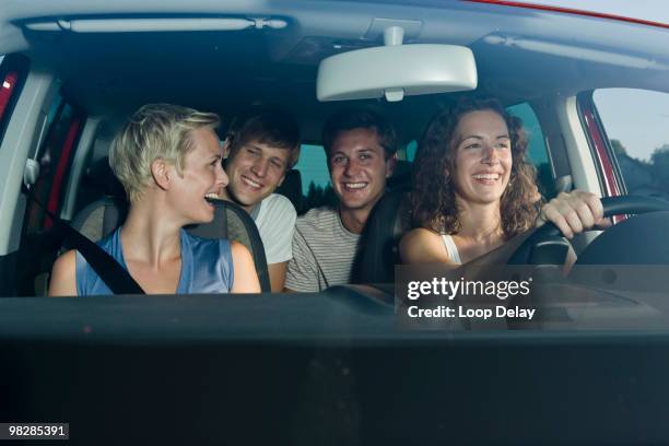
[[[99,439],[94,427],[104,424],[101,420],[127,411],[132,419],[126,434],[108,431],[98,444],[122,442],[124,435],[148,441],[155,431],[146,425],[176,425],[189,404],[199,409],[185,415],[185,423],[197,420],[207,427],[197,433],[176,427],[157,438],[204,444],[270,437],[292,444],[667,441],[669,392],[662,373],[669,363],[661,329],[635,338],[638,343],[614,329],[583,337],[558,332],[580,322],[613,327],[630,321],[630,315],[637,334],[645,322],[661,326],[661,315],[641,301],[607,294],[588,305],[555,304],[564,325],[552,334],[479,332],[458,343],[453,333],[410,337],[395,330],[392,281],[397,243],[410,228],[411,164],[435,113],[473,90],[493,95],[524,119],[531,137],[529,159],[547,200],[574,188],[615,197],[625,196],[627,187],[592,92],[669,93],[667,25],[496,3],[514,2],[72,0],[4,5],[0,295],[10,298],[0,300],[5,304],[0,359],[17,365],[1,375],[7,384],[0,389],[11,403],[3,404],[0,418],[71,416],[73,432],[81,421],[81,438]],[[419,54],[421,46],[434,47]],[[392,47],[403,52],[391,52]],[[384,55],[364,52],[369,50]],[[461,59],[462,51],[470,58]],[[453,70],[450,78],[429,81],[429,66]],[[365,228],[355,284],[309,295],[314,300],[269,293],[253,220],[234,203],[220,203],[213,224],[190,231],[249,247],[262,293],[246,304],[230,296],[207,296],[197,305],[173,296],[154,306],[128,296],[58,304],[24,298],[46,295],[55,259],[73,243],[49,214],[94,242],[121,224],[127,203],[107,155],[132,111],[148,103],[213,111],[222,117],[223,138],[235,113],[255,102],[279,104],[294,114],[304,160],[312,152],[322,155],[322,124],[343,107],[375,109],[396,126],[398,167]],[[306,193],[315,181],[315,164],[309,169],[297,164],[278,190],[298,213],[315,206]],[[322,177],[327,166],[320,167]],[[666,201],[611,198],[605,208],[608,215],[618,215],[613,228],[601,238],[587,232],[571,240],[584,265],[669,263],[662,235],[669,224]],[[625,216],[635,213],[644,215]],[[639,233],[653,236],[642,239]],[[491,253],[488,260],[558,265],[568,246],[547,227],[504,253]],[[574,308],[592,316],[574,318]],[[146,345],[151,350],[142,350]],[[453,356],[443,355],[444,345]],[[540,349],[545,345],[552,348]],[[602,365],[619,357],[624,361],[615,373]],[[155,376],[156,371],[168,372]],[[658,387],[642,386],[644,379]],[[63,384],[49,387],[49,380]],[[321,386],[325,382],[330,384]],[[462,382],[480,386],[466,391],[458,387]],[[128,409],[133,395],[139,402]],[[153,409],[165,400],[179,410]],[[310,409],[316,404],[320,411]],[[249,421],[254,410],[265,430]],[[562,424],[555,422],[560,413],[568,413]],[[481,419],[489,430],[478,427]],[[630,427],[625,422],[632,419]],[[216,423],[231,427],[215,431]]]

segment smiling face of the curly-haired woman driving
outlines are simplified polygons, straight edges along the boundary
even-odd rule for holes
[[[506,122],[492,110],[463,115],[453,145],[456,196],[478,203],[500,202],[512,172],[510,138]]]

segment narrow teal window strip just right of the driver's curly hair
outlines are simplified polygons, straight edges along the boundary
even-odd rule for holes
[[[545,139],[543,138],[543,132],[535,110],[527,103],[514,105],[508,107],[507,110],[523,120],[523,126],[528,133],[527,156],[528,161],[537,167],[539,191],[545,199],[555,197],[553,174],[551,173]]]

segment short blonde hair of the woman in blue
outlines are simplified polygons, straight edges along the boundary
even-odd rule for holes
[[[137,202],[151,184],[151,164],[164,160],[179,175],[192,146],[191,131],[215,129],[219,116],[171,104],[148,104],[137,110],[109,149],[109,166],[124,185],[130,202]]]

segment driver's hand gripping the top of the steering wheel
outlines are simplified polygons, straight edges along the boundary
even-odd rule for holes
[[[545,203],[536,221],[536,227],[551,222],[566,238],[594,227],[607,228],[611,221],[603,216],[601,200],[584,190],[561,192]]]

